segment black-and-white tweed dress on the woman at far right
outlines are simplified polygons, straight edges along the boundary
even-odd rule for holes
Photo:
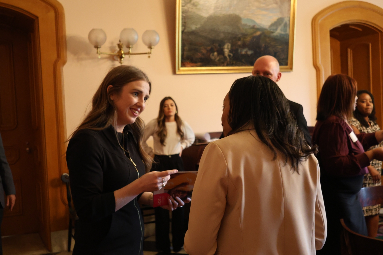
[[[375,121],[369,120],[368,123],[370,124],[370,126],[365,127],[354,117],[349,121],[349,124],[356,127],[359,130],[359,132],[374,133],[374,132],[380,130],[379,125]],[[375,149],[375,148],[380,147],[382,145],[383,145],[383,142],[381,142],[378,145],[370,147],[370,149],[368,149],[368,150]],[[374,159],[370,162],[370,164],[372,167],[374,167],[376,170],[378,170],[378,172],[381,175],[381,173],[382,173],[382,162]],[[364,176],[363,187],[372,187],[372,186],[380,186],[380,185],[381,185],[381,180],[379,180],[378,182],[374,182],[370,173],[367,173]],[[363,207],[364,216],[376,215],[376,214],[379,214],[379,211],[380,211],[380,204],[376,204],[375,206]]]

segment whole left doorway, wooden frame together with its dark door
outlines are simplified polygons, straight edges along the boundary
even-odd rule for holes
[[[31,129],[30,137],[20,138],[20,141],[9,139],[10,144],[4,144],[9,149],[8,161],[15,161],[11,170],[15,177],[18,207],[15,212],[5,214],[4,217],[8,219],[3,222],[17,222],[18,217],[26,214],[26,207],[29,206],[29,212],[36,213],[35,217],[38,218],[37,227],[31,224],[23,230],[22,226],[13,226],[19,227],[17,230],[21,232],[38,232],[51,250],[51,232],[67,228],[68,219],[65,188],[60,181],[62,172],[66,172],[62,87],[62,66],[66,62],[64,10],[56,0],[0,0],[0,16],[2,33],[8,33],[8,37],[4,36],[0,41],[1,53],[9,59],[8,62],[3,61],[9,69],[4,74],[13,75],[9,75],[7,82],[2,81],[0,105],[5,109],[10,101],[15,113],[8,114],[8,119],[0,120],[0,129],[8,132],[10,138],[26,132],[18,130],[20,127]],[[13,33],[17,29],[20,29],[20,33]],[[24,46],[16,47],[16,44]],[[20,54],[19,50],[25,46],[25,54]],[[21,64],[15,61],[12,54],[19,54],[17,60]],[[15,70],[20,69],[20,65],[28,71],[24,80],[18,83],[15,78],[18,79],[20,74]],[[19,92],[20,95],[17,94]],[[22,96],[23,99],[18,100]],[[23,103],[26,104],[24,108]],[[21,164],[21,161],[26,163]],[[31,176],[27,176],[28,171],[20,170],[26,167],[32,169],[32,165],[34,169],[31,171],[34,173]],[[27,200],[30,199],[23,199],[28,195],[32,199],[29,205]],[[9,234],[19,234],[7,224],[4,227]]]

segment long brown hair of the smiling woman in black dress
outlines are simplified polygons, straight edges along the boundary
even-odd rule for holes
[[[129,82],[143,80],[149,83],[149,94],[152,90],[152,85],[147,75],[140,69],[131,65],[120,65],[111,69],[101,82],[95,95],[92,99],[92,110],[87,114],[82,123],[70,135],[74,137],[81,129],[102,130],[110,125],[115,125],[117,122],[117,111],[110,95],[120,95],[122,88]],[[109,85],[113,85],[107,90]],[[133,136],[137,140],[137,150],[144,162],[146,172],[149,172],[152,167],[152,157],[150,157],[141,147],[141,141],[144,134],[145,123],[141,118],[137,117],[133,124],[130,124],[133,130]]]

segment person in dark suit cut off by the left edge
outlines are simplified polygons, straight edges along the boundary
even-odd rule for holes
[[[4,199],[4,192],[7,196],[7,201]],[[15,184],[13,183],[13,177],[11,168],[9,167],[7,157],[5,157],[5,150],[3,146],[3,140],[0,135],[0,226],[3,221],[3,213],[5,206],[12,211],[13,206],[15,206],[16,201],[16,189]],[[0,230],[1,236],[1,230]],[[0,238],[0,255],[3,255],[3,247]]]

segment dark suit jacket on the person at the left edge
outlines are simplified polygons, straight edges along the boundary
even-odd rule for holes
[[[4,192],[5,195],[16,194],[11,168],[9,167],[7,157],[5,157],[3,140],[0,135],[0,202],[3,208],[5,208]]]

